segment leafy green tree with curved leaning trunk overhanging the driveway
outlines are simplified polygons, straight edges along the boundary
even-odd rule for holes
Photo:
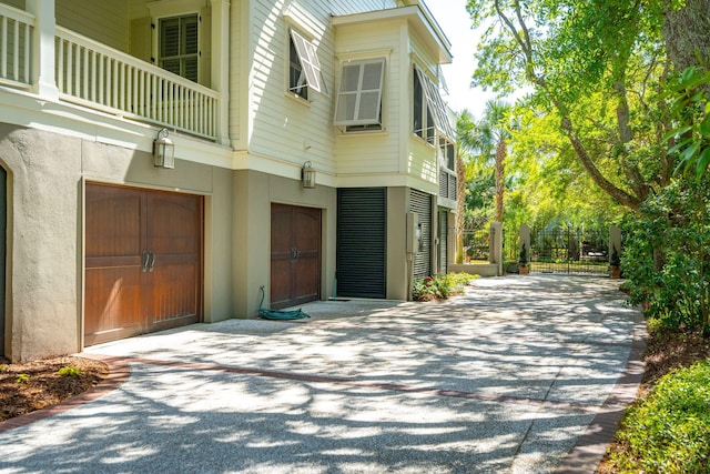
[[[488,26],[475,83],[531,85],[531,103],[558,117],[584,170],[621,204],[638,210],[669,183],[658,11],[641,0],[470,0],[468,11]]]

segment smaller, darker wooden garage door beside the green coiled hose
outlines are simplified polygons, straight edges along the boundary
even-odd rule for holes
[[[321,297],[321,210],[271,206],[271,307]]]

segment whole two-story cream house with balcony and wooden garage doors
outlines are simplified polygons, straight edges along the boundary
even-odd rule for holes
[[[0,0],[0,355],[446,272],[452,57],[422,0]]]

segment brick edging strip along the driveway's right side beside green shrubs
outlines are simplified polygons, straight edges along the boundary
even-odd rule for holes
[[[623,373],[585,433],[577,438],[575,447],[554,471],[556,474],[588,474],[597,470],[619,430],[621,416],[637,397],[646,371],[643,353],[647,337],[646,321],[641,313],[637,312],[633,317],[631,349]]]

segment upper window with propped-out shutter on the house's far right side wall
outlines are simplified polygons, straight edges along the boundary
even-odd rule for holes
[[[438,88],[418,68],[414,68],[414,133],[430,144],[435,144],[435,130],[444,137],[456,137],[448,120],[446,105]]]

